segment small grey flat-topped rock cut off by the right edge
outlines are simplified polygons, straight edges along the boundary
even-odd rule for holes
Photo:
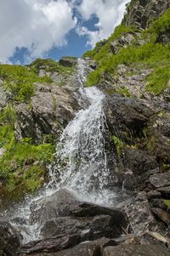
[[[155,188],[161,188],[170,185],[170,172],[163,174],[154,174],[150,176],[150,183]]]

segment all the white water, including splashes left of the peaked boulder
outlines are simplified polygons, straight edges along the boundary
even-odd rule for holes
[[[79,60],[78,100],[82,104],[82,110],[77,112],[59,139],[55,163],[49,167],[50,181],[39,197],[49,196],[59,188],[66,187],[83,200],[109,205],[115,195],[105,190],[109,177],[105,152],[107,127],[102,105],[105,95],[95,87],[83,88],[83,82],[86,80],[85,69],[84,61]],[[29,219],[31,202],[37,199],[38,196],[28,200],[25,207],[19,208],[15,217]],[[38,238],[39,226],[15,226],[24,236],[24,242]]]

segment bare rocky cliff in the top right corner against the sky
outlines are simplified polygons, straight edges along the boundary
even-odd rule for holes
[[[127,4],[127,14],[123,22],[127,26],[145,29],[170,7],[169,0],[132,0]]]

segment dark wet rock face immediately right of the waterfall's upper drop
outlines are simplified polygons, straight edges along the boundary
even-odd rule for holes
[[[120,139],[130,139],[142,136],[145,123],[153,111],[144,104],[143,100],[136,100],[118,95],[105,97],[105,115],[111,133]],[[126,137],[124,134],[127,134]],[[132,141],[131,141],[132,142]]]

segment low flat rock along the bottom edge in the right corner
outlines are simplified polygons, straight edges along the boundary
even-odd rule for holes
[[[161,245],[122,244],[117,247],[105,247],[103,256],[168,256],[166,247]]]

